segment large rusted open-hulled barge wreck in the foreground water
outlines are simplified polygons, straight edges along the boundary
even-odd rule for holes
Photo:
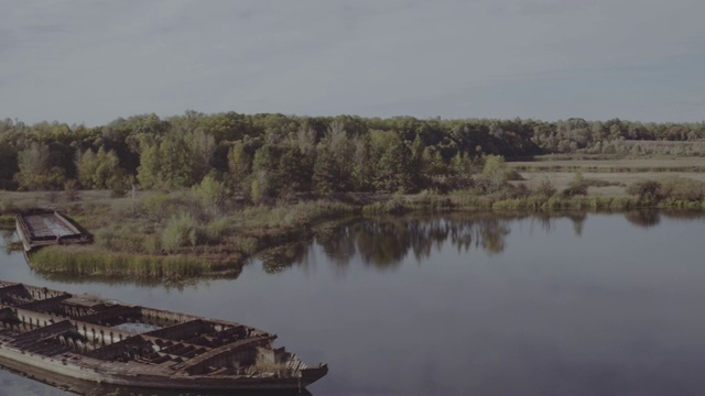
[[[236,322],[0,280],[0,364],[74,380],[192,391],[302,391],[327,374]]]

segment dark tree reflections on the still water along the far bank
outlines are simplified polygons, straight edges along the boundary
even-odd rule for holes
[[[653,227],[661,217],[683,219],[702,218],[701,212],[630,211],[627,220],[638,227]],[[489,255],[500,254],[507,244],[510,223],[538,223],[546,233],[555,222],[567,219],[576,235],[582,235],[587,212],[567,211],[532,215],[452,213],[430,216],[357,218],[319,227],[315,241],[327,258],[346,267],[356,256],[378,270],[394,268],[409,254],[417,261],[431,256],[434,249],[451,243],[458,251],[481,249]],[[269,250],[260,255],[264,271],[278,273],[306,261],[310,242],[292,243]]]

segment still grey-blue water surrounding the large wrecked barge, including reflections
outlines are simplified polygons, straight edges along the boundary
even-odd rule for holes
[[[330,372],[314,395],[701,394],[705,219],[655,213],[351,221],[237,279],[0,278],[240,321]],[[8,235],[6,235],[8,237]],[[0,372],[0,395],[63,395]]]

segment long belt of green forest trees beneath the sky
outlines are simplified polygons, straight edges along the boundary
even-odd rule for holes
[[[204,114],[86,128],[0,121],[0,188],[193,187],[213,204],[297,194],[413,193],[473,185],[482,158],[705,155],[705,123]],[[660,141],[660,144],[644,144]],[[677,143],[669,143],[677,142]],[[675,145],[674,145],[675,144]]]

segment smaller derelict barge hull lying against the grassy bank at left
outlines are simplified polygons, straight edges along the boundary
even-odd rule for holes
[[[26,252],[54,244],[90,242],[87,233],[57,211],[22,212],[15,217],[15,226]]]

